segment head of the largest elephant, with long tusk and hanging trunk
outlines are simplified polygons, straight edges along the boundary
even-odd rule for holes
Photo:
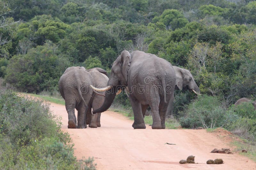
[[[106,97],[102,106],[93,110],[92,113],[100,113],[106,111],[115,99],[116,94],[127,86],[128,70],[130,68],[131,54],[124,50],[120,56],[114,61],[106,88],[98,89],[92,87],[96,91],[106,91]]]

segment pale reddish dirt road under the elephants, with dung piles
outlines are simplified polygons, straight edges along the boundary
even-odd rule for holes
[[[101,114],[100,128],[68,129],[65,106],[52,103],[51,110],[62,116],[62,130],[71,135],[77,159],[94,157],[100,170],[256,169],[255,162],[237,153],[210,153],[214,148],[230,146],[225,138],[205,130],[133,129],[133,121],[111,111]],[[189,155],[196,156],[198,164],[179,164]],[[222,158],[224,164],[206,164],[208,159],[216,158]]]

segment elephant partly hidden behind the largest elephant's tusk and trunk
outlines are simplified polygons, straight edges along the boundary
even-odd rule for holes
[[[107,72],[102,68],[91,68],[87,70],[93,78],[93,84],[96,88],[106,87],[108,84]],[[91,128],[100,127],[100,115],[101,113],[92,114],[92,110],[99,109],[105,100],[105,92],[97,92],[101,95],[93,93],[90,103],[88,104],[86,112],[86,124],[89,124]]]

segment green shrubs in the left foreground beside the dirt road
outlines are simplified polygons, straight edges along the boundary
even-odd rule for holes
[[[0,91],[0,169],[95,169],[77,163],[71,138],[43,101]]]

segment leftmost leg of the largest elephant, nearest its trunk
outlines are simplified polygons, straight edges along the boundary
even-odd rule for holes
[[[144,117],[141,111],[141,104],[138,101],[134,101],[131,97],[129,99],[132,104],[132,110],[134,115],[134,123],[132,124],[132,127],[134,129],[146,129]]]

